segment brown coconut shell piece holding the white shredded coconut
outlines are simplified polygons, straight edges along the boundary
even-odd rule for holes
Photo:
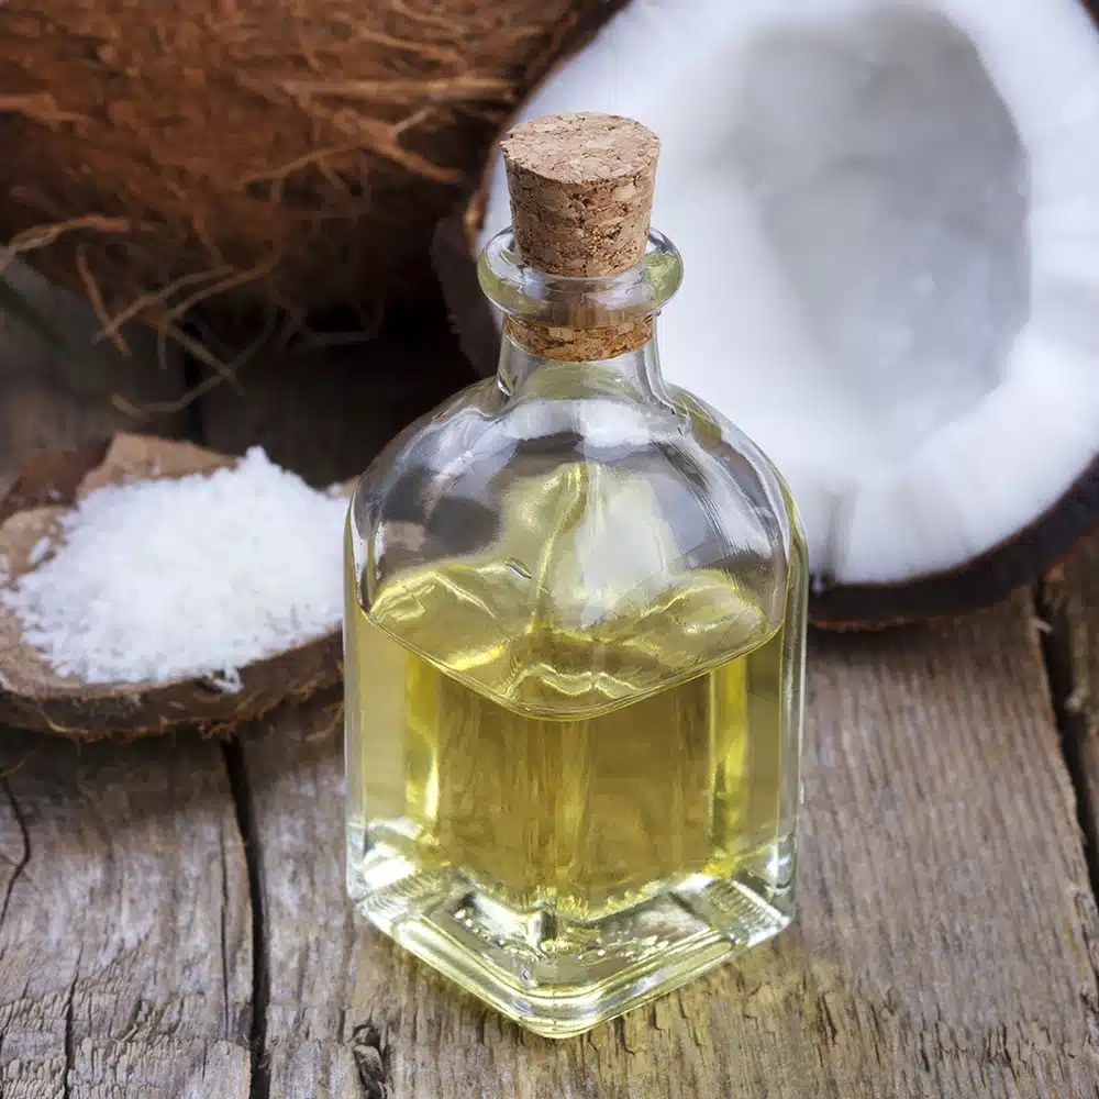
[[[130,478],[182,477],[234,463],[189,443],[116,434],[64,453],[32,456],[0,498],[0,558],[13,577],[31,567],[32,547],[56,531],[81,496]],[[345,486],[349,492],[352,486]],[[229,693],[208,679],[155,685],[89,686],[53,671],[23,642],[19,621],[0,606],[0,724],[76,740],[133,737],[180,728],[229,732],[289,698],[338,682],[338,630],[241,669],[242,689]]]

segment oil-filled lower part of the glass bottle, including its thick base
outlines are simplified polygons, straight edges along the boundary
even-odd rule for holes
[[[375,923],[556,1036],[785,926],[797,613],[775,630],[717,570],[582,631],[508,559],[400,575],[369,613],[358,580],[348,886]]]

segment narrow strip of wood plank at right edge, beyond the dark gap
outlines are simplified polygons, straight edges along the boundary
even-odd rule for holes
[[[1079,784],[1084,824],[1099,873],[1099,535],[1087,540],[1045,585],[1050,648],[1065,722],[1066,748]]]

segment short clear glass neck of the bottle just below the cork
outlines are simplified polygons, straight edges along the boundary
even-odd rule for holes
[[[501,392],[508,397],[535,392],[551,396],[556,391],[571,391],[579,385],[588,391],[617,393],[634,400],[668,399],[651,323],[647,338],[628,351],[582,359],[532,349],[529,341],[521,342],[506,325],[496,378]]]

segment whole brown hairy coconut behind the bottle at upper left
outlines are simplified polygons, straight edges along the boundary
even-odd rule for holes
[[[114,333],[414,298],[503,120],[622,0],[9,0],[0,234]]]

